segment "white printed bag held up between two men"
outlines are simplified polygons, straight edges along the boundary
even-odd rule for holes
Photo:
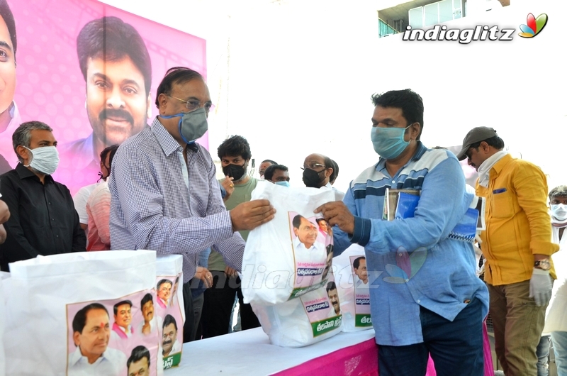
[[[334,201],[335,193],[259,182],[252,199],[268,199],[276,216],[249,233],[242,260],[245,303],[278,304],[324,286],[332,265],[332,230],[313,211]]]

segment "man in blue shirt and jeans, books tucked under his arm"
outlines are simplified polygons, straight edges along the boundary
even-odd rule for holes
[[[371,140],[380,159],[355,178],[342,202],[320,206],[336,225],[335,254],[364,246],[378,372],[483,375],[488,291],[471,243],[449,238],[472,194],[456,157],[420,141],[423,102],[410,89],[375,94]],[[412,218],[383,221],[386,188],[417,189]],[[337,228],[338,227],[338,228]]]

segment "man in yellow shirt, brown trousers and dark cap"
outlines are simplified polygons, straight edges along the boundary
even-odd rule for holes
[[[457,154],[478,171],[486,197],[481,249],[490,292],[495,352],[506,375],[537,375],[536,346],[544,328],[555,270],[547,182],[530,162],[513,158],[493,128],[473,128]]]

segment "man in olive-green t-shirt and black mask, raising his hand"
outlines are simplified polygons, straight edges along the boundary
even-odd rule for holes
[[[220,183],[227,188],[227,192],[232,189],[230,197],[228,199],[225,197],[225,206],[226,209],[232,210],[238,204],[250,201],[252,191],[256,188],[258,180],[248,175],[252,152],[246,138],[232,136],[219,145],[217,153],[225,175]],[[240,231],[245,241],[248,238],[248,232]],[[250,304],[244,304],[240,278],[236,270],[225,264],[223,255],[211,250],[208,257],[208,270],[213,273],[213,286],[204,292],[203,338],[228,333],[235,296],[238,297],[240,304],[242,330],[260,326]]]

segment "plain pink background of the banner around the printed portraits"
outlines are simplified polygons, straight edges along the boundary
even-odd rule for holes
[[[8,3],[16,21],[18,48],[14,101],[21,122],[38,120],[47,123],[53,128],[60,148],[88,137],[92,131],[85,109],[85,80],[79,69],[76,46],[79,31],[91,20],[116,16],[142,36],[152,61],[152,116],[148,123],[157,114],[155,91],[168,68],[190,67],[206,77],[206,41],[202,38],[98,1],[9,0]],[[0,154],[15,167],[18,160],[11,145],[12,133],[13,126],[0,133]],[[199,142],[208,148],[208,134]],[[61,157],[54,178],[66,184],[72,194],[98,179],[96,172],[87,173],[77,166],[73,156]]]

